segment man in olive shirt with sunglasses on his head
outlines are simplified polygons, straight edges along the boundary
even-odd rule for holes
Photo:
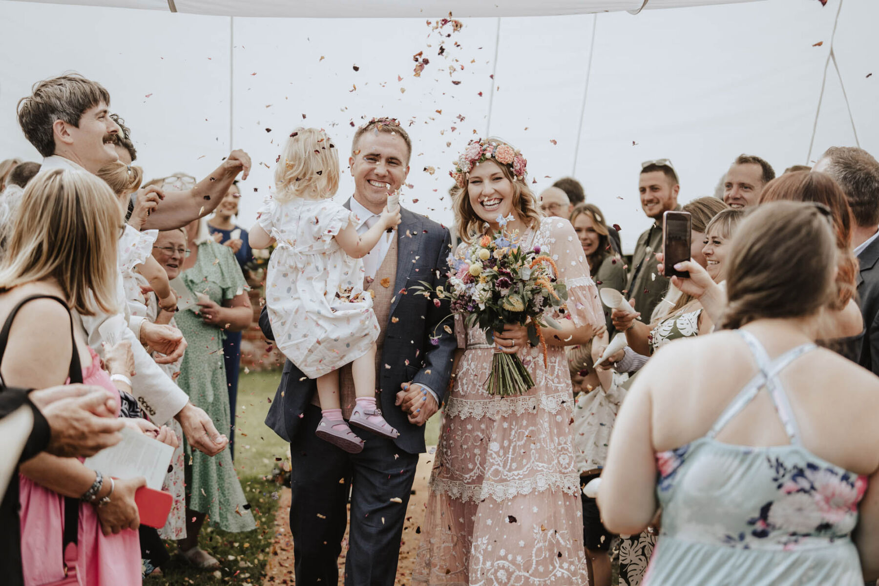
[[[657,159],[641,163],[638,191],[641,192],[641,207],[647,217],[653,220],[653,225],[638,236],[626,297],[635,300],[635,310],[641,314],[641,321],[650,323],[654,307],[668,290],[668,279],[658,273],[655,256],[655,253],[662,251],[662,214],[680,209],[680,185],[672,162]]]

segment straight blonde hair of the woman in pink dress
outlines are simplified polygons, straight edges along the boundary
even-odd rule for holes
[[[0,264],[0,290],[53,278],[80,315],[113,314],[116,248],[123,228],[116,196],[102,180],[54,169],[27,184]]]

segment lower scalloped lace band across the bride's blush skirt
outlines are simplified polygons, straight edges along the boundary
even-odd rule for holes
[[[434,477],[431,479],[430,488],[434,493],[445,494],[465,503],[468,501],[480,503],[489,497],[502,502],[513,496],[530,495],[534,492],[546,490],[557,490],[568,495],[579,495],[580,477],[577,474],[548,472],[538,474],[533,478],[517,481],[491,482],[483,480],[482,484],[468,484],[467,482]]]

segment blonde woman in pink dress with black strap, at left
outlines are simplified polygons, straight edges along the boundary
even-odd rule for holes
[[[107,351],[111,381],[85,343],[78,315],[121,310],[116,242],[123,225],[113,192],[91,174],[50,170],[28,184],[0,264],[0,320],[11,323],[9,344],[0,349],[4,384],[59,385],[81,365],[83,381],[104,387],[118,409],[119,390],[130,390],[131,349],[123,343]],[[19,471],[25,584],[54,583],[73,570],[82,586],[141,583],[134,491],[142,478],[102,477],[78,459],[46,453]],[[70,564],[62,551],[65,497],[79,499]]]

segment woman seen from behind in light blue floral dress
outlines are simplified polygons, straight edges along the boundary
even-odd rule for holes
[[[814,343],[839,298],[825,213],[777,202],[745,219],[721,324],[737,331],[668,344],[622,405],[599,507],[632,533],[662,510],[644,584],[879,575],[879,379]]]

